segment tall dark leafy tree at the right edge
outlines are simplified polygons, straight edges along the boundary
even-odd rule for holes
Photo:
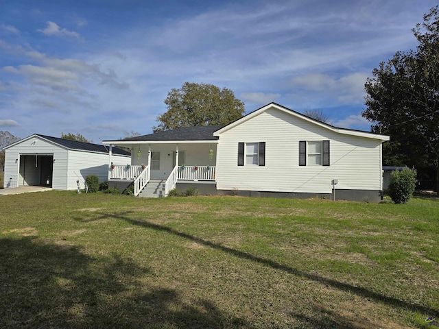
[[[365,84],[367,108],[361,115],[372,121],[372,132],[390,134],[388,160],[436,167],[439,192],[438,6],[423,21],[412,29],[416,51],[399,51],[372,71],[374,77]]]

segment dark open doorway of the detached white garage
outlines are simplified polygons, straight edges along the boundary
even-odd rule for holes
[[[52,187],[54,155],[21,155],[19,186]]]

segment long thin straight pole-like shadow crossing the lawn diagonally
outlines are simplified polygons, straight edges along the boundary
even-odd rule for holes
[[[224,245],[220,245],[218,243],[213,243],[211,241],[207,241],[201,238],[198,238],[197,236],[193,236],[191,234],[187,234],[185,232],[179,232],[178,230],[175,230],[173,228],[169,228],[167,226],[162,226],[156,223],[151,223],[149,221],[140,221],[138,219],[132,219],[128,216],[129,212],[124,212],[123,214],[119,213],[104,213],[100,212],[100,217],[95,219],[104,219],[104,218],[116,218],[116,219],[122,219],[124,221],[127,221],[128,223],[131,223],[132,225],[136,226],[142,226],[144,228],[149,228],[152,230],[157,230],[161,232],[167,232],[169,234],[173,234],[175,236],[180,236],[183,239],[188,239],[190,241],[194,241],[196,243],[199,243],[200,245],[205,245],[207,247],[211,247],[213,249],[219,249],[222,252],[226,252],[228,254],[232,254],[236,257],[243,258],[246,260],[251,260],[256,263],[261,263],[265,266],[271,267],[272,269],[278,269],[281,271],[285,271],[289,274],[292,274],[294,276],[300,276],[302,278],[307,278],[309,280],[313,280],[315,282],[321,282],[323,284],[327,284],[329,287],[333,287],[335,289],[338,289],[340,291],[346,291],[349,293],[355,293],[356,295],[359,295],[361,297],[373,300],[375,302],[383,303],[392,307],[398,307],[403,308],[404,310],[412,310],[415,312],[423,313],[429,316],[438,317],[439,312],[438,310],[434,310],[432,308],[429,308],[427,306],[418,305],[418,304],[412,304],[410,302],[399,300],[395,297],[390,297],[386,295],[381,295],[380,293],[377,293],[375,291],[370,291],[369,289],[366,289],[364,287],[355,287],[352,284],[347,284],[344,282],[339,282],[337,280],[333,280],[330,278],[324,278],[322,276],[318,276],[316,274],[307,273],[305,271],[302,271],[300,269],[296,269],[294,267],[290,267],[287,265],[283,265],[280,263],[277,263],[274,260],[262,258],[259,256],[254,256],[252,254],[249,254],[248,252],[241,252],[240,250],[233,249],[230,247],[225,247]]]

